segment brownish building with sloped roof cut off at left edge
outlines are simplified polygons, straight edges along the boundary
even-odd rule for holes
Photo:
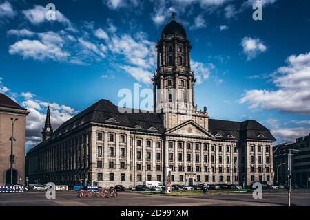
[[[11,137],[14,122],[12,184],[25,182],[25,120],[27,109],[0,94],[0,186],[11,184]]]

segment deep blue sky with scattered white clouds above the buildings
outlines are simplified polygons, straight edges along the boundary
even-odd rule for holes
[[[56,21],[45,19],[54,3]],[[30,111],[27,148],[40,141],[48,103],[54,128],[119,89],[151,88],[154,45],[176,21],[192,42],[198,108],[255,119],[280,142],[310,133],[310,2],[232,0],[0,0],[0,91]]]

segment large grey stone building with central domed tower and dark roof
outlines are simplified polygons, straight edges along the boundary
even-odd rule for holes
[[[195,104],[192,45],[180,23],[168,23],[156,44],[154,111],[116,107],[100,100],[52,131],[27,157],[30,181],[125,187],[144,181],[172,184],[273,183],[273,142],[255,120],[209,118]],[[126,112],[124,112],[127,110]]]

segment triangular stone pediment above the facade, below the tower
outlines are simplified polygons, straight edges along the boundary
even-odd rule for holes
[[[170,129],[166,132],[166,134],[214,138],[214,135],[211,135],[209,131],[205,130],[202,126],[200,126],[193,120],[189,120],[187,122],[184,122],[183,124],[174,127],[173,129]]]

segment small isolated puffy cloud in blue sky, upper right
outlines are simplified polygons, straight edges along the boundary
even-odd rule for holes
[[[258,54],[265,52],[267,47],[262,43],[260,39],[252,39],[251,37],[245,36],[241,40],[243,53],[247,55],[247,60],[251,60],[258,56]]]

